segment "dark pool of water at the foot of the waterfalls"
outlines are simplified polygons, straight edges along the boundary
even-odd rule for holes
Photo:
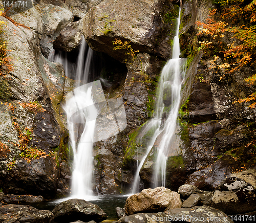
[[[116,216],[116,207],[124,208],[125,200],[128,195],[101,195],[97,196],[94,200],[87,200],[88,202],[98,205],[106,214],[107,219],[115,219],[117,220]],[[39,210],[49,210],[52,211],[53,208],[58,205],[59,203],[63,202],[66,199],[56,199],[50,200],[47,202],[40,202],[36,204],[27,204],[31,205]]]

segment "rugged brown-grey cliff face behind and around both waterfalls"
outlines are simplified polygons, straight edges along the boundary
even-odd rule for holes
[[[176,152],[167,160],[166,187],[177,191],[186,182],[213,190],[231,173],[256,167],[256,111],[232,103],[255,91],[243,81],[253,68],[220,80],[221,74],[209,69],[209,58],[193,45],[198,43],[196,21],[206,21],[214,6],[193,0],[181,7],[182,57],[191,51],[193,59],[182,86],[180,126],[170,146]],[[100,193],[129,190],[145,153],[137,139],[154,111],[158,77],[172,55],[177,9],[165,0],[42,0],[23,14],[7,14],[27,28],[1,17],[6,24],[1,35],[8,41],[13,61],[13,70],[0,76],[0,187],[4,192],[53,196],[68,191],[68,132],[61,105],[72,81],[61,64],[45,57],[52,46],[74,53],[81,33],[93,50],[120,61],[110,59],[115,69],[108,77],[102,71],[101,78],[112,83],[111,90],[104,88],[109,98],[123,99],[127,118],[124,131],[95,144],[94,189]],[[122,43],[113,44],[116,39]],[[144,187],[152,183],[160,140],[141,169]]]

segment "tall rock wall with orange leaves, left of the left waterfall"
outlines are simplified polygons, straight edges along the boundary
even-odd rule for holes
[[[65,77],[60,64],[50,63],[41,55],[43,26],[38,7],[11,15],[24,26],[1,17],[6,23],[3,38],[8,41],[13,69],[0,77],[0,140],[5,148],[0,153],[0,185],[6,193],[52,197],[57,190],[65,135],[58,110]]]

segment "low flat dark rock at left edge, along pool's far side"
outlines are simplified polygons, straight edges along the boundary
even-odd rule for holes
[[[4,204],[18,204],[18,203],[39,203],[43,202],[44,197],[42,196],[32,196],[32,195],[14,195],[6,194],[4,195],[2,202]]]

